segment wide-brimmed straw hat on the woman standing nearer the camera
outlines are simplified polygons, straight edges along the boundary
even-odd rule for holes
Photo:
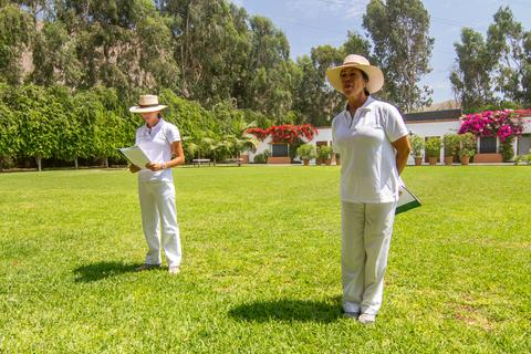
[[[356,67],[367,74],[368,82],[366,88],[368,93],[378,92],[384,86],[384,73],[378,66],[371,65],[368,60],[362,55],[350,54],[343,60],[343,65],[326,70],[326,77],[329,77],[330,84],[341,93],[344,93],[341,71],[345,67]]]

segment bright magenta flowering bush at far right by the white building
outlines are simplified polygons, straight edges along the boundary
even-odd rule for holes
[[[512,110],[483,111],[462,116],[459,134],[472,133],[477,137],[499,137],[503,160],[513,157],[512,142],[522,134],[523,122],[520,112]]]

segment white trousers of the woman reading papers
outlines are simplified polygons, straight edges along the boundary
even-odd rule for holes
[[[147,241],[146,264],[160,264],[160,238],[169,267],[181,259],[179,226],[175,208],[175,186],[170,181],[138,181],[142,227]]]

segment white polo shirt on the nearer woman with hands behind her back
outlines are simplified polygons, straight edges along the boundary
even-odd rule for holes
[[[371,96],[354,116],[345,110],[334,117],[332,140],[334,152],[341,155],[341,200],[398,200],[400,179],[391,143],[405,135],[398,110]]]

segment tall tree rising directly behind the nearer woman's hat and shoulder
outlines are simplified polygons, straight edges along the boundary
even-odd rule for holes
[[[371,0],[363,27],[374,44],[374,58],[385,75],[387,100],[403,112],[431,103],[431,90],[419,87],[428,66],[434,39],[428,35],[429,14],[420,0]]]

